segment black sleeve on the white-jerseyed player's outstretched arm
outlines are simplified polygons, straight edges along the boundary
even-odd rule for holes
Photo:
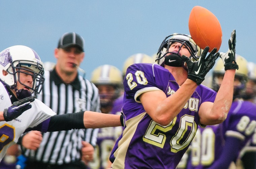
[[[52,116],[47,131],[85,128],[84,111]]]

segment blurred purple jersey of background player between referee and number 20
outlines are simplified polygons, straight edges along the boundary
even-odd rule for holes
[[[109,114],[121,114],[123,106],[123,95],[114,101],[113,109]],[[117,138],[122,134],[123,127],[99,128],[94,160],[89,163],[91,169],[105,169],[109,165],[109,155]]]

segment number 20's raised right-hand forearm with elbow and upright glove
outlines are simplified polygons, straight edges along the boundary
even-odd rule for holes
[[[223,122],[231,107],[234,92],[235,69],[238,69],[238,65],[235,62],[235,37],[235,30],[233,30],[231,38],[228,41],[228,51],[220,54],[225,67],[225,74],[214,103],[202,103],[199,109],[201,124],[213,125]]]

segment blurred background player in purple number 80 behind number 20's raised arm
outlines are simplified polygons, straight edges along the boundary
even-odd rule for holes
[[[255,132],[256,105],[241,99],[248,78],[247,61],[239,55],[235,60],[239,69],[235,73],[233,102],[227,118],[221,124],[198,127],[190,146],[188,169],[228,168]],[[219,59],[213,71],[212,86],[215,91],[220,89],[224,73],[222,60]],[[255,159],[251,161],[253,163],[255,166]]]

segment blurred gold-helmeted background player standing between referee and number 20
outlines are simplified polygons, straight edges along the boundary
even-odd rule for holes
[[[105,64],[97,67],[91,77],[91,82],[99,89],[101,112],[120,115],[123,104],[114,105],[114,102],[120,97],[123,88],[122,72],[115,66]],[[89,163],[91,169],[105,169],[109,166],[110,152],[122,131],[122,127],[99,129],[94,160]]]

